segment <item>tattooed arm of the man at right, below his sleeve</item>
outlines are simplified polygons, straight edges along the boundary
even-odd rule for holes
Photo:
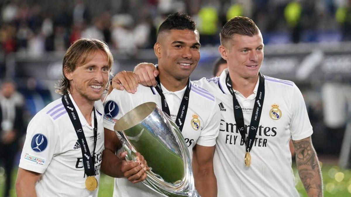
[[[323,196],[322,174],[311,137],[292,141],[296,151],[296,164],[300,179],[309,197]]]

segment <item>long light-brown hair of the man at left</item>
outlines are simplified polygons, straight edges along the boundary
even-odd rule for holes
[[[79,39],[75,41],[66,51],[62,61],[62,79],[56,84],[56,92],[59,94],[68,94],[70,84],[65,76],[65,70],[73,72],[77,66],[89,61],[89,56],[101,50],[107,56],[107,62],[111,71],[113,56],[107,44],[97,39]]]

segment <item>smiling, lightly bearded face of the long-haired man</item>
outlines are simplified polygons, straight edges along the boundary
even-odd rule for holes
[[[97,101],[106,88],[110,66],[107,55],[102,50],[97,49],[91,56],[91,59],[77,65],[72,72],[65,72],[65,75],[70,81],[71,94],[79,95],[87,101]]]

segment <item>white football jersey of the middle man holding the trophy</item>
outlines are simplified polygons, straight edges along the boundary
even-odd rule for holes
[[[191,82],[189,95],[188,110],[185,117],[182,135],[185,139],[190,155],[195,144],[211,147],[216,144],[218,136],[220,112],[216,105],[215,97],[199,87],[196,83]],[[176,92],[168,91],[161,84],[163,94],[165,95],[171,118],[176,120],[180,102],[186,87]],[[138,86],[135,94],[129,94],[127,91],[114,89],[107,96],[104,103],[104,127],[113,130],[115,122],[126,114],[128,111],[146,102],[155,102],[162,109],[161,96],[154,87]],[[196,120],[197,119],[197,120]],[[195,120],[195,121],[194,121]],[[194,124],[197,122],[197,124]],[[158,193],[147,188],[143,183],[133,184],[126,178],[115,178],[115,188],[113,196],[160,196]]]

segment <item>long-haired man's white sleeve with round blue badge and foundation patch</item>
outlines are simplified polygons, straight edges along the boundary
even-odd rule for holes
[[[25,170],[44,173],[51,162],[55,150],[59,149],[59,135],[55,135],[53,120],[38,113],[28,124],[19,167]]]

